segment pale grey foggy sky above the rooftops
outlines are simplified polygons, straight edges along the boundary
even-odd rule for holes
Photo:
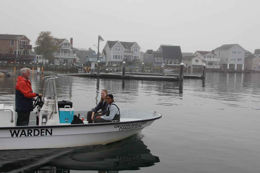
[[[30,0],[0,1],[0,34],[26,35],[35,45],[41,31],[73,38],[73,46],[100,52],[107,40],[136,41],[141,51],[160,44],[182,52],[211,51],[239,44],[254,52],[259,44],[259,0]]]

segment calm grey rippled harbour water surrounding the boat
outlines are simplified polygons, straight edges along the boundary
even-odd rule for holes
[[[35,92],[40,91],[41,79],[46,75],[50,74],[31,75]],[[72,101],[74,109],[91,109],[106,88],[120,109],[162,114],[141,134],[124,141],[137,147],[121,148],[131,153],[134,148],[147,146],[149,154],[159,160],[154,165],[146,163],[147,167],[133,162],[139,170],[119,172],[260,172],[259,73],[207,73],[205,85],[202,80],[184,79],[183,92],[179,92],[178,82],[100,79],[97,89],[95,78],[57,76],[58,99]],[[0,78],[1,103],[14,105],[15,85],[15,78]],[[117,145],[121,143],[112,144],[112,148]],[[107,146],[102,147],[106,151]],[[58,151],[48,152],[51,155]],[[97,172],[91,170],[95,171],[70,172]]]

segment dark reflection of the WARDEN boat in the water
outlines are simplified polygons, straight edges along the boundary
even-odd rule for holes
[[[71,149],[71,150],[70,150]],[[36,152],[38,149],[31,151]],[[50,150],[50,149],[47,149]],[[64,151],[66,151],[64,153]],[[10,151],[10,150],[9,150]],[[15,150],[14,150],[15,151]],[[22,150],[20,150],[22,151]],[[28,150],[27,150],[28,151]],[[44,151],[40,149],[40,151]],[[63,152],[63,153],[62,153]],[[25,156],[23,156],[25,157]],[[27,156],[27,158],[30,156]],[[141,134],[125,140],[106,144],[74,148],[63,148],[60,156],[53,158],[31,158],[35,166],[12,168],[0,172],[64,172],[64,170],[97,170],[99,172],[118,172],[119,170],[138,170],[160,162],[153,156],[141,140]],[[12,165],[15,165],[13,163]],[[21,166],[22,164],[17,164]],[[6,164],[2,168],[6,168]],[[15,169],[15,170],[14,170]],[[67,171],[68,172],[68,171]]]

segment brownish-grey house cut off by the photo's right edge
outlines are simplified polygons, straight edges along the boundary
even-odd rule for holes
[[[246,54],[248,53],[248,54]],[[245,69],[246,70],[260,70],[260,49],[256,49],[254,54],[245,52]]]

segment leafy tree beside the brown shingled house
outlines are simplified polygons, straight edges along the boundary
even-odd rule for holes
[[[37,46],[35,51],[48,60],[53,60],[54,57],[52,54],[58,50],[57,45],[51,44],[53,38],[50,31],[42,31],[35,41],[35,45]]]

